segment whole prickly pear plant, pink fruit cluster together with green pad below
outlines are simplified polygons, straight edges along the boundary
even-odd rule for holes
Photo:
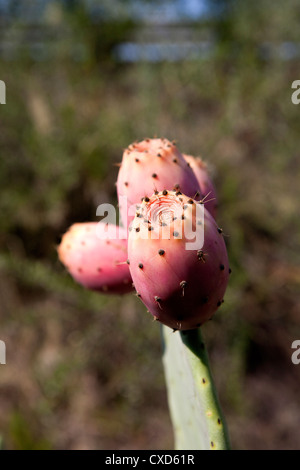
[[[161,324],[177,449],[226,449],[199,328],[222,305],[231,272],[207,165],[168,139],[145,139],[124,151],[116,186],[122,226],[74,224],[59,258],[88,289],[135,291]]]

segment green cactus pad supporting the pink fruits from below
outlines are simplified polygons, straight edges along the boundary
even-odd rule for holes
[[[168,401],[177,450],[228,450],[229,438],[200,328],[162,326]]]

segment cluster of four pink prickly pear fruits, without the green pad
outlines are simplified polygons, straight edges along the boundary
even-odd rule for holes
[[[167,139],[145,139],[124,151],[117,193],[123,227],[74,224],[60,260],[89,289],[124,294],[134,286],[156,320],[198,328],[222,305],[230,273],[206,164]],[[187,227],[201,231],[199,247],[187,249]]]

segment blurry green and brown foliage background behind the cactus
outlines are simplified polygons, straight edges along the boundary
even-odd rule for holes
[[[122,149],[156,134],[218,189],[232,276],[203,333],[233,447],[299,449],[299,2],[1,0],[0,15],[1,446],[173,446],[158,325],[56,254],[116,204]]]

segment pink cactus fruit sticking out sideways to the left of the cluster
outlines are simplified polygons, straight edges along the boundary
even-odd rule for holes
[[[127,232],[102,222],[77,223],[63,235],[60,261],[84,287],[112,294],[130,292]]]

